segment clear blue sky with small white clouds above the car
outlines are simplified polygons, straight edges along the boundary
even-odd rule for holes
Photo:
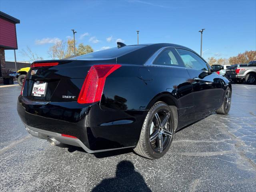
[[[256,1],[12,1],[1,0],[0,10],[20,19],[16,25],[17,60],[29,60],[20,50],[29,46],[49,59],[54,42],[67,40],[71,29],[77,43],[94,50],[116,46],[116,40],[137,44],[168,42],[192,48],[203,57],[229,58],[245,50],[256,50]],[[108,39],[107,39],[108,38]],[[13,50],[6,50],[13,61]]]

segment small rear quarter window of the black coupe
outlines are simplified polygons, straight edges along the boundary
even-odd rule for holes
[[[178,63],[171,48],[166,48],[165,50],[163,50],[154,60],[153,64],[184,67],[181,63]]]

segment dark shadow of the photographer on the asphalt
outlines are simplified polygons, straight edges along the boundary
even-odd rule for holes
[[[136,172],[132,162],[124,160],[116,166],[116,177],[104,179],[92,189],[92,192],[151,192],[144,178]]]

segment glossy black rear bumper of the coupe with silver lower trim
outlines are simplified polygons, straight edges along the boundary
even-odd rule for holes
[[[19,96],[18,114],[28,132],[38,138],[101,152],[136,146],[147,111],[107,111],[99,104],[38,102]],[[76,138],[61,136],[67,134]]]

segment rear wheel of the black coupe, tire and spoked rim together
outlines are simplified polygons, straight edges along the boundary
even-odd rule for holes
[[[151,131],[152,133],[150,134]],[[150,108],[144,120],[140,139],[137,146],[134,148],[134,152],[148,159],[160,158],[164,156],[170,148],[173,135],[174,115],[172,110],[166,103],[156,102]],[[155,139],[154,136],[156,136]]]

